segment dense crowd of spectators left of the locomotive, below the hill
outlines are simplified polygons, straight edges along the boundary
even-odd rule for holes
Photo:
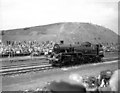
[[[53,41],[37,42],[37,41],[13,41],[7,44],[0,43],[0,56],[1,57],[14,57],[26,55],[47,55],[52,52],[54,46]]]

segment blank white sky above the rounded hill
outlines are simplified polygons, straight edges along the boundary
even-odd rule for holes
[[[118,33],[119,0],[0,0],[0,30],[88,22]]]

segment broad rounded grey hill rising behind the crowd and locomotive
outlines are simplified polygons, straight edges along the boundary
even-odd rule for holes
[[[59,42],[60,40],[64,40],[65,43],[81,43],[85,41],[103,44],[118,43],[118,35],[112,30],[91,23],[55,23],[43,26],[7,30],[1,34],[3,42],[6,42],[7,40],[36,40],[39,42],[47,40]]]

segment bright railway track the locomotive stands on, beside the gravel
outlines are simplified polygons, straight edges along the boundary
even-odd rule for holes
[[[117,60],[117,57],[114,58],[106,58],[103,59],[103,62],[106,61],[113,61],[113,60]],[[43,70],[49,70],[49,69],[53,69],[51,64],[35,64],[33,63],[32,65],[21,65],[21,67],[17,67],[16,65],[13,66],[10,69],[2,69],[0,70],[0,75],[1,76],[7,76],[7,75],[15,75],[15,74],[23,74],[23,73],[28,73],[28,72],[36,72],[36,71],[43,71]]]

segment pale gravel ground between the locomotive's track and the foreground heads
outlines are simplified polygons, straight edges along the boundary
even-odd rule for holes
[[[31,72],[23,75],[2,77],[2,90],[3,91],[18,91],[26,89],[42,88],[46,82],[52,80],[67,80],[72,73],[78,73],[83,77],[90,75],[98,75],[103,70],[116,70],[118,69],[118,62],[102,63],[99,65],[88,64],[76,67],[52,69],[42,72]]]

